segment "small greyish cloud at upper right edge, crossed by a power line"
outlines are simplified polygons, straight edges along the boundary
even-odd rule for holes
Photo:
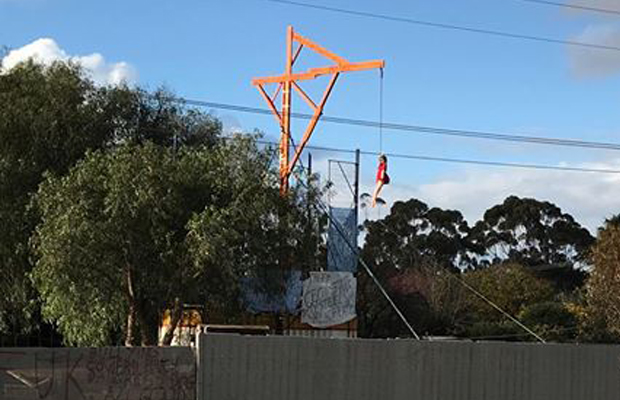
[[[588,26],[575,41],[620,47],[620,27],[600,24]],[[603,77],[620,72],[620,52],[570,46],[570,66],[579,77]]]

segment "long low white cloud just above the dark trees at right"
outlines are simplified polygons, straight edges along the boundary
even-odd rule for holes
[[[620,159],[582,166],[620,170]],[[510,195],[550,201],[592,233],[605,218],[620,213],[620,174],[468,169],[419,187],[399,184],[398,179],[394,175],[394,185],[384,189],[390,204],[415,197],[431,207],[459,210],[470,224]]]

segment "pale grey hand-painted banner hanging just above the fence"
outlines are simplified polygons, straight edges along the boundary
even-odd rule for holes
[[[304,281],[301,321],[316,328],[355,318],[357,281],[350,272],[311,272]]]

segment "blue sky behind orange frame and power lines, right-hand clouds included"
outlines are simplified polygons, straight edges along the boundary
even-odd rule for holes
[[[567,0],[570,1],[570,0]],[[620,17],[519,0],[369,0],[309,3],[562,40],[620,46]],[[612,8],[616,0],[589,0]],[[291,24],[341,56],[385,59],[384,120],[456,129],[620,142],[620,52],[441,30],[264,0],[118,1],[0,0],[0,45],[19,49],[50,38],[68,56],[100,53],[125,62],[140,85],[166,85],[180,96],[265,107],[250,81],[275,75],[284,64]],[[300,68],[323,64],[319,57]],[[101,65],[101,64],[97,64]],[[113,68],[112,68],[113,69]],[[106,70],[107,71],[107,70]],[[344,75],[326,115],[376,120],[379,74]],[[320,93],[323,80],[304,86]],[[294,107],[306,111],[301,99]],[[228,125],[276,136],[271,117],[216,111]],[[305,123],[305,122],[304,122]],[[303,129],[294,124],[297,137]],[[320,124],[312,144],[378,151],[376,129]],[[565,149],[416,133],[384,135],[386,152],[506,162],[620,169],[620,153]],[[315,153],[326,173],[325,158]],[[362,163],[370,191],[374,157]],[[616,176],[493,169],[391,160],[389,201],[420,197],[461,209],[473,222],[509,194],[556,202],[590,228],[620,212]],[[385,211],[383,211],[385,212]]]

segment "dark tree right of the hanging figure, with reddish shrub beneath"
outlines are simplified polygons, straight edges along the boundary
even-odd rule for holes
[[[411,199],[396,202],[382,220],[366,222],[362,257],[388,287],[414,328],[445,334],[455,317],[457,292],[442,275],[467,264],[474,249],[469,227],[460,212],[429,208]],[[358,284],[362,336],[407,334],[374,282],[362,271]]]

